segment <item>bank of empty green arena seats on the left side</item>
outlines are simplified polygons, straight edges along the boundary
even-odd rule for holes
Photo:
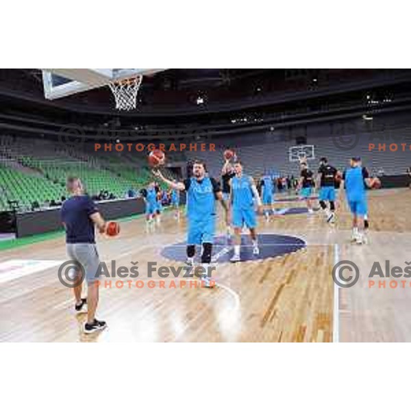
[[[92,196],[108,192],[116,198],[126,197],[129,190],[138,192],[151,179],[142,162],[92,155],[84,147],[8,136],[0,142],[0,210],[60,203],[68,195],[65,181],[69,175],[80,177]]]

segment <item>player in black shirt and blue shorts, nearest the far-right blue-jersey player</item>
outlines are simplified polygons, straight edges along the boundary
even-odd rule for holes
[[[320,160],[319,176],[320,176],[320,206],[327,216],[327,223],[335,221],[335,201],[336,201],[336,175],[337,169],[328,164],[327,158],[323,157]],[[329,209],[327,208],[327,201]]]

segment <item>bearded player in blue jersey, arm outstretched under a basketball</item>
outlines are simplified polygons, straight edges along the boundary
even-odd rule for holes
[[[189,265],[194,264],[195,246],[202,245],[201,264],[208,267],[211,262],[212,244],[214,241],[216,223],[216,199],[221,202],[225,210],[227,220],[227,206],[223,199],[223,193],[216,180],[206,175],[206,164],[196,160],[192,164],[192,177],[184,182],[172,182],[166,179],[160,172],[153,171],[156,177],[175,190],[187,192],[187,261]],[[206,286],[213,286],[210,277],[204,274],[201,278]]]

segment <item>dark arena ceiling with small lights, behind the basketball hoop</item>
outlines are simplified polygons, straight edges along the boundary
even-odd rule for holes
[[[132,112],[115,110],[108,87],[50,101],[40,69],[1,69],[0,129],[57,135],[75,123],[90,134],[217,136],[411,111],[411,71],[168,69],[143,79],[138,98]]]

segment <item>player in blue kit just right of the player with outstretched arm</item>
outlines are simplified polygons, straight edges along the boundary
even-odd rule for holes
[[[256,199],[260,213],[262,212],[262,203],[253,178],[242,173],[242,164],[239,160],[234,162],[234,171],[236,176],[230,181],[229,201],[230,208],[232,208],[232,223],[234,226],[234,255],[230,261],[238,262],[240,261],[242,225],[245,225],[250,230],[254,256],[260,254],[256,232],[256,210],[254,210],[253,199]]]

